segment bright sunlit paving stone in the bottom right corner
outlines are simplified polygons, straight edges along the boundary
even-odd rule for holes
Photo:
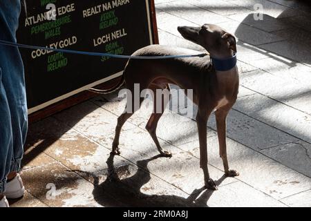
[[[294,207],[311,207],[311,190],[284,198],[281,202]]]

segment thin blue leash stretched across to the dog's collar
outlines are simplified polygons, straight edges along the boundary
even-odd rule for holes
[[[0,44],[5,46],[14,46],[19,48],[30,48],[30,49],[39,49],[39,50],[51,50],[55,52],[62,52],[68,54],[76,54],[76,55],[89,55],[89,56],[100,56],[100,57],[114,57],[119,59],[171,59],[171,58],[185,58],[185,57],[205,57],[207,54],[202,53],[198,55],[165,55],[165,56],[131,56],[131,55],[113,55],[109,53],[101,53],[101,52],[86,52],[81,50],[67,50],[67,49],[59,49],[59,48],[46,48],[42,46],[30,46],[26,44],[18,44],[11,41],[3,41],[0,40]]]

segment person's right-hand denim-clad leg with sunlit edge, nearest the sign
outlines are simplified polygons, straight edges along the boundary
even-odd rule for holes
[[[0,1],[0,39],[16,41],[15,33],[19,24],[20,7],[19,0]],[[0,46],[0,67],[12,126],[12,156],[9,171],[14,175],[14,172],[21,168],[23,144],[28,126],[23,63],[18,48]]]

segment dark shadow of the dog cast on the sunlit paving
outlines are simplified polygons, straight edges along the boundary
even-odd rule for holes
[[[156,181],[152,181],[151,187],[147,187],[149,185],[144,186],[144,184],[151,181],[148,163],[151,160],[156,160],[158,157],[160,155],[147,160],[140,160],[137,162],[138,167],[133,164],[115,167],[113,165],[114,155],[111,154],[106,161],[108,165],[108,169],[105,170],[106,180],[102,183],[100,183],[100,175],[98,174],[79,172],[92,177],[95,184],[93,190],[94,199],[102,206],[207,206],[207,201],[213,191],[205,189],[204,186],[200,189],[195,189],[187,198],[173,194],[159,194],[159,192],[165,193],[168,190],[156,189],[156,182],[159,181],[158,178]],[[104,171],[102,172],[104,173]],[[134,173],[133,175],[131,175],[132,172]],[[220,177],[216,183],[220,184],[223,180],[225,180],[225,176]],[[169,188],[174,189],[174,186]],[[141,189],[147,192],[150,191],[151,194],[142,193]],[[157,191],[157,194],[153,194],[155,191]],[[182,195],[187,195],[180,190],[178,192],[182,193]]]

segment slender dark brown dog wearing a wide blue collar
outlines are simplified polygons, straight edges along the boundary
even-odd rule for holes
[[[178,31],[185,39],[205,48],[210,56],[189,57],[175,59],[129,59],[124,70],[123,79],[126,88],[134,93],[134,84],[140,84],[140,92],[145,88],[153,91],[156,89],[168,89],[169,84],[176,84],[183,89],[193,89],[193,102],[198,106],[196,122],[200,141],[200,167],[205,177],[205,186],[216,190],[217,186],[209,177],[207,168],[207,120],[212,111],[215,111],[220,148],[220,157],[223,159],[225,175],[234,177],[238,172],[229,170],[226,150],[226,117],[229,110],[236,102],[238,95],[238,68],[236,67],[236,39],[219,26],[205,24],[200,27],[178,27]],[[158,56],[185,54],[181,48],[168,46],[147,46],[136,51],[135,56]],[[120,82],[122,84],[124,81]],[[118,86],[120,86],[120,84]],[[117,87],[117,86],[116,86]],[[154,93],[156,95],[156,93]],[[130,96],[132,97],[132,96]],[[134,97],[126,104],[134,103]],[[156,100],[156,97],[154,97]],[[140,98],[140,104],[144,98]],[[162,102],[162,113],[169,100]],[[158,110],[156,102],[154,110]],[[139,108],[139,107],[138,107]],[[115,139],[113,140],[113,153],[120,154],[118,145],[121,128],[138,108],[130,108],[117,119]],[[153,141],[156,143],[161,155],[171,157],[167,151],[163,151],[158,138],[156,128],[162,113],[154,111],[147,123]]]

